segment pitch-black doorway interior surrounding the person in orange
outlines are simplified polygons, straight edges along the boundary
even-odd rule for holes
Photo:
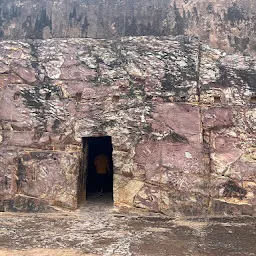
[[[83,170],[85,176],[84,190],[86,199],[101,197],[111,197],[113,200],[113,160],[112,160],[112,140],[110,136],[104,137],[84,137],[83,138]],[[105,174],[99,174],[97,160],[99,156],[107,160]],[[101,161],[101,160],[100,160]],[[102,165],[102,162],[100,162]],[[103,163],[104,165],[104,163]],[[105,169],[105,168],[104,168]],[[103,191],[101,190],[103,188]]]

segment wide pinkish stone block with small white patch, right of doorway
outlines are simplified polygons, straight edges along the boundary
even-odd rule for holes
[[[186,180],[185,183],[191,185],[190,175],[200,176],[205,173],[203,157],[200,149],[190,144],[142,141],[136,147],[134,162],[141,170],[145,170],[145,177],[151,182],[166,183],[172,173],[179,172]],[[180,183],[185,181],[182,176],[177,176]]]

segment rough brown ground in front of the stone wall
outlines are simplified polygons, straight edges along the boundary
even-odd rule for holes
[[[174,220],[118,213],[101,197],[76,212],[0,213],[0,256],[256,255],[256,218]]]

